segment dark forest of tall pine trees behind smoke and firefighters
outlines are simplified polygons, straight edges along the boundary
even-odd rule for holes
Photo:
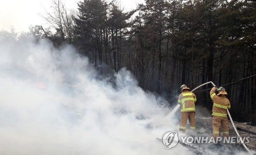
[[[102,74],[130,70],[170,104],[182,84],[212,81],[226,89],[234,120],[256,124],[255,1],[145,0],[124,11],[119,1],[83,0],[70,11],[53,0],[51,9],[43,16],[50,27],[33,25],[30,33],[57,48],[73,45]],[[209,111],[210,88],[195,92]]]

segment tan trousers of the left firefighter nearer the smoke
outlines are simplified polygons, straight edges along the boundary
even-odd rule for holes
[[[196,121],[195,121],[196,112],[184,112],[181,113],[180,119],[180,131],[186,131],[187,119],[190,123],[190,129],[196,130]]]

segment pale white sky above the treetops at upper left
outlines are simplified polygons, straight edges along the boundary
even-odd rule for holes
[[[62,0],[67,9],[77,10],[80,0]],[[121,0],[121,7],[125,11],[136,8],[143,0]],[[0,2],[0,31],[10,31],[11,26],[16,32],[28,32],[30,25],[46,25],[46,21],[39,14],[44,14],[44,8],[50,10],[52,0],[2,0]],[[50,12],[50,11],[49,11]]]

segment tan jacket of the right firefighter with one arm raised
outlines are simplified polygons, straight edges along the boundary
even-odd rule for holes
[[[216,87],[210,90],[210,98],[214,101],[212,107],[212,116],[227,117],[227,109],[230,109],[230,102],[224,96],[217,96],[215,93]]]

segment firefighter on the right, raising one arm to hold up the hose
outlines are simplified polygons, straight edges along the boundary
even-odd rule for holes
[[[220,125],[222,127],[222,132],[224,137],[228,137],[228,119],[227,119],[227,109],[230,109],[230,102],[226,98],[227,92],[223,87],[218,88],[216,95],[216,87],[210,90],[210,98],[214,101],[214,106],[212,107],[212,136],[219,136]]]

